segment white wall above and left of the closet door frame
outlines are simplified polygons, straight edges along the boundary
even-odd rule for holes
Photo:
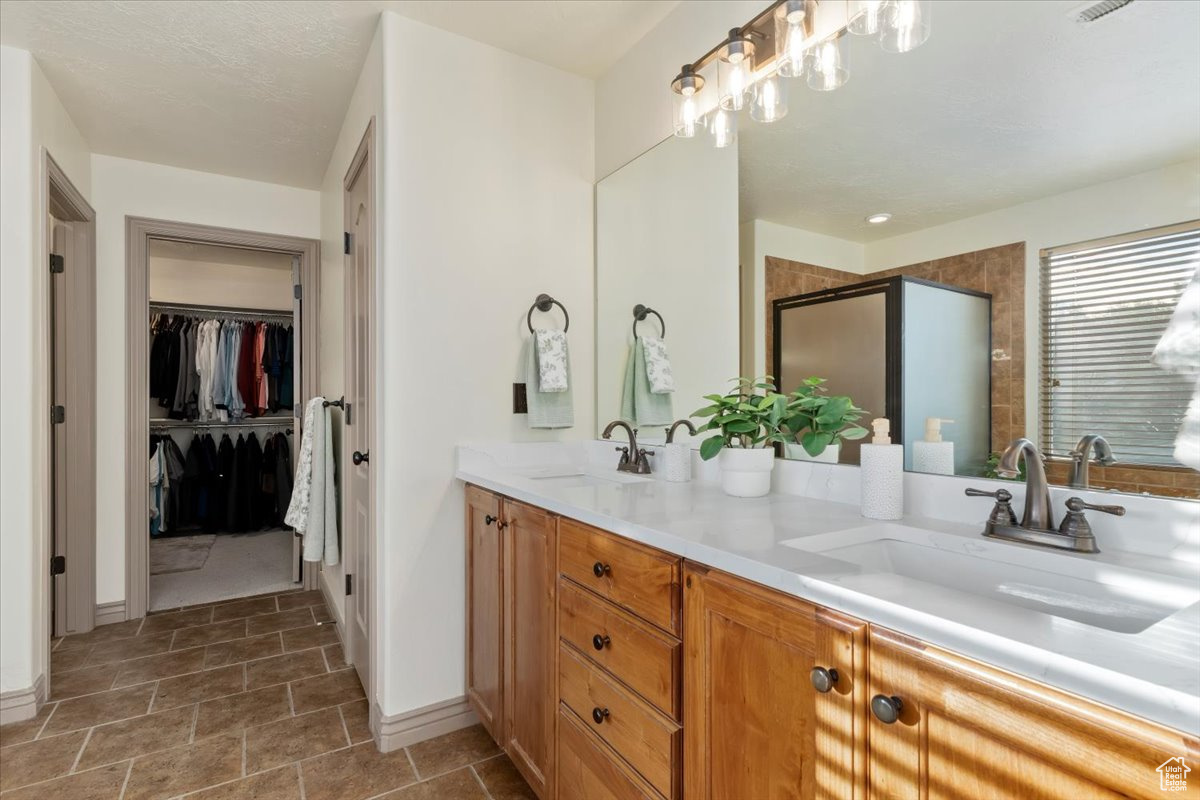
[[[96,602],[125,599],[125,217],[318,239],[320,193],[95,155]],[[130,309],[138,313],[137,309]]]

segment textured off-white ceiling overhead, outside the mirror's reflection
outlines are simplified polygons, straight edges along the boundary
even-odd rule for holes
[[[95,152],[317,188],[379,12],[602,74],[679,0],[0,2]]]

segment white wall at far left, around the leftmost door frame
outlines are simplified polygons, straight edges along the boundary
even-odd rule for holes
[[[0,692],[46,674],[49,619],[49,154],[91,198],[88,143],[37,62],[0,47]]]

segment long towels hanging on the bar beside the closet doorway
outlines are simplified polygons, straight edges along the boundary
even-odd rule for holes
[[[337,547],[337,492],[334,467],[334,433],[324,397],[308,401],[304,435],[296,461],[292,503],[283,522],[304,534],[304,560],[335,565]]]

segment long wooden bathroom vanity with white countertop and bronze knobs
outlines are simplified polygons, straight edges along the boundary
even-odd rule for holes
[[[479,453],[458,477],[468,696],[544,799],[1151,798],[1156,768],[1200,748],[1194,565],[1153,576],[1114,554],[1096,583],[1087,557],[1030,561],[966,525],[872,525],[826,500]],[[877,547],[887,569],[859,559]],[[1061,564],[1043,577],[1064,594],[1114,595],[1052,616],[906,558],[1001,572],[1006,591]],[[1122,607],[1139,578],[1165,589]]]

